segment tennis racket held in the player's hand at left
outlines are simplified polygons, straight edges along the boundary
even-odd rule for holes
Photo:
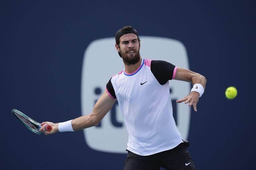
[[[23,125],[25,125],[29,130],[33,131],[36,134],[40,134],[41,132],[39,129],[41,128],[40,123],[34,121],[33,119],[26,116],[24,113],[13,109],[12,114],[21,122]],[[46,131],[51,131],[52,127],[50,125],[45,127]]]

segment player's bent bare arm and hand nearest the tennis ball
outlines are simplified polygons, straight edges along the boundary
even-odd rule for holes
[[[184,69],[184,68],[177,68],[176,74],[175,74],[175,80],[181,80],[181,81],[187,81],[194,84],[201,84],[202,90],[205,90],[206,85],[206,78],[202,76],[201,74],[195,73],[193,71]],[[200,87],[197,87],[200,88]],[[199,100],[200,94],[198,92],[192,91],[188,96],[184,97],[183,99],[180,99],[176,101],[177,103],[184,102],[185,104],[189,103],[189,106],[194,107],[194,110],[197,112],[196,104]]]

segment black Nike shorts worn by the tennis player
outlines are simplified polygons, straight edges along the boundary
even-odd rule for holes
[[[195,165],[188,152],[189,142],[183,140],[173,149],[149,156],[137,155],[129,150],[125,160],[124,170],[194,170]]]

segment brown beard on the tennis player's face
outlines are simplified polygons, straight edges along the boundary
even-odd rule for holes
[[[125,52],[121,50],[121,52],[120,52],[122,55],[122,59],[126,65],[136,64],[137,62],[140,61],[140,50],[132,49],[134,51],[134,53],[128,54],[127,52],[130,50],[131,49],[126,50]],[[130,56],[128,56],[128,55],[130,55]]]

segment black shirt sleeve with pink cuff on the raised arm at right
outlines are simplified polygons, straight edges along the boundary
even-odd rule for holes
[[[168,80],[172,79],[174,68],[175,65],[166,61],[151,61],[151,72],[161,85],[164,85]]]

